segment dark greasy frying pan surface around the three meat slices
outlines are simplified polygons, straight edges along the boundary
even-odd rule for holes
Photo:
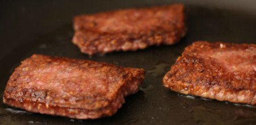
[[[89,57],[71,43],[74,15],[183,2],[188,34],[175,45]],[[184,96],[163,87],[162,77],[195,40],[256,43],[256,1],[1,1],[0,124],[256,124],[256,109]],[[2,103],[14,68],[33,53],[104,61],[146,69],[139,92],[109,118],[76,120],[28,113]]]

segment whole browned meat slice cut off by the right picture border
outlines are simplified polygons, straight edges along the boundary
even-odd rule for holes
[[[183,94],[256,104],[256,45],[197,41],[185,48],[163,78]]]

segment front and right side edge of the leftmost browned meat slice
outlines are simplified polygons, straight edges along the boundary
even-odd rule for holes
[[[131,79],[122,81],[123,84],[119,87],[117,91],[117,96],[109,102],[109,105],[98,110],[86,110],[82,108],[67,108],[60,106],[51,106],[47,105],[44,102],[33,102],[33,101],[19,101],[19,98],[6,98],[6,92],[3,95],[3,103],[18,107],[20,109],[24,109],[33,113],[40,114],[48,114],[48,115],[60,115],[66,116],[69,118],[76,119],[97,119],[104,116],[111,116],[117,112],[119,108],[121,108],[122,104],[125,102],[126,95],[134,94],[139,90],[139,85],[143,82],[144,79],[144,69],[134,69],[134,68],[126,68],[127,75],[133,76]],[[136,72],[134,73],[134,71]],[[6,86],[7,89],[8,84]],[[5,90],[6,91],[6,90]]]

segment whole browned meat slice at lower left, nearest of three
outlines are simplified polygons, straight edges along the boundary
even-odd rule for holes
[[[116,113],[143,79],[143,69],[32,55],[11,75],[3,102],[34,113],[96,119]]]

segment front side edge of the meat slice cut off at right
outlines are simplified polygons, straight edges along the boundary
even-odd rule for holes
[[[221,87],[219,85],[214,85],[212,87],[205,87],[203,85],[193,86],[191,84],[185,83],[183,81],[175,81],[172,78],[167,77],[168,73],[163,78],[164,87],[171,89],[172,91],[177,91],[186,95],[196,95],[203,98],[217,99],[218,101],[229,101],[233,103],[247,103],[250,105],[256,105],[256,95],[254,91],[251,90],[240,90],[232,91]]]

